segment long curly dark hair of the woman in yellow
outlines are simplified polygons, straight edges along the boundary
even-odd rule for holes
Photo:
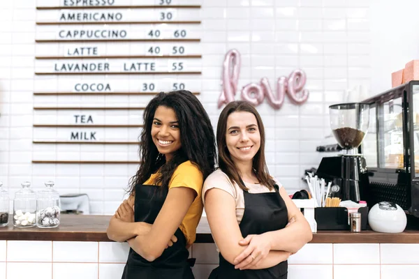
[[[166,157],[159,153],[152,139],[152,124],[157,107],[169,107],[175,111],[180,130],[182,146],[166,163]],[[141,165],[129,181],[128,193],[142,184],[159,170],[155,183],[168,187],[172,174],[180,164],[190,160],[203,173],[204,179],[214,171],[216,144],[210,117],[198,98],[190,91],[179,90],[159,93],[154,97],[143,114],[144,127],[140,139]]]

